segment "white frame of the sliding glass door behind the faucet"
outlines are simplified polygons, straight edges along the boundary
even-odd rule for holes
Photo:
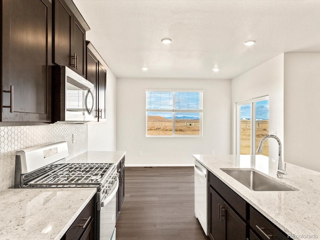
[[[251,105],[251,120],[250,120],[250,124],[251,124],[251,130],[250,130],[250,154],[251,155],[255,155],[255,103],[257,101],[264,101],[264,100],[269,100],[269,96],[265,95],[265,96],[260,96],[260,97],[255,97],[255,98],[251,98],[248,100],[244,100],[244,101],[238,101],[236,102],[236,154],[240,154],[240,106],[241,105],[246,105],[246,104],[250,104]],[[254,127],[252,127],[254,126]]]

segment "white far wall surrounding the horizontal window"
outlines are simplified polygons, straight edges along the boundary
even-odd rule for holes
[[[230,153],[230,80],[117,79],[116,88],[116,149],[126,150],[126,165],[191,165],[192,154]],[[145,89],[204,89],[203,136],[146,137]]]

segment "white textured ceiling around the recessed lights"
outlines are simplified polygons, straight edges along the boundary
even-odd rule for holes
[[[320,0],[73,1],[116,77],[233,78],[282,52],[320,52]]]

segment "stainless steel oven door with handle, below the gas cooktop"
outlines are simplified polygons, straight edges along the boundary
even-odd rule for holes
[[[116,192],[119,187],[119,181],[112,187],[108,195],[105,195],[98,202],[98,239],[99,240],[115,240],[115,218],[116,218]]]

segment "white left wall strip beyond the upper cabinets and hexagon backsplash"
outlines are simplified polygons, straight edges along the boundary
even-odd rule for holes
[[[106,122],[87,123],[88,151],[114,151],[116,144],[116,78],[106,71]]]

